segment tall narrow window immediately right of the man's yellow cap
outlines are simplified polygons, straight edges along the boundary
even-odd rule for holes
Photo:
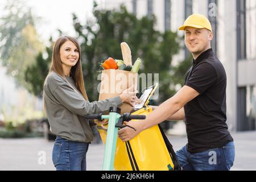
[[[212,25],[213,39],[210,42],[210,47],[217,55],[217,3],[218,0],[208,0],[208,19]]]

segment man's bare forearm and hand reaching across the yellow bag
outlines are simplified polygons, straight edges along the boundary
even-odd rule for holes
[[[127,125],[137,129],[134,131],[130,127],[124,127],[118,131],[118,136],[124,142],[134,138],[141,131],[146,130],[158,123],[165,121],[167,118],[171,118],[177,111],[179,111],[187,102],[197,97],[199,93],[189,87],[183,86],[173,97],[164,101],[157,109],[148,114],[145,120],[142,121],[130,121],[125,122]]]

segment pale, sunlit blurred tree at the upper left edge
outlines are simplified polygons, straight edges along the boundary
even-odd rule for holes
[[[7,73],[14,76],[19,85],[30,88],[24,81],[24,72],[44,45],[40,42],[35,28],[38,20],[22,1],[12,0],[6,3],[0,22],[0,53],[2,64]]]

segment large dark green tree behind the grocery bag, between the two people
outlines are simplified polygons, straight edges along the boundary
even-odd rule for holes
[[[133,61],[141,57],[143,73],[159,73],[160,95],[162,102],[171,97],[170,90],[172,56],[179,51],[176,32],[156,31],[156,19],[137,17],[128,13],[124,6],[117,10],[97,10],[94,3],[94,18],[83,26],[77,16],[73,15],[73,23],[81,42],[82,68],[85,77],[86,92],[90,100],[98,100],[97,70],[101,60],[108,57],[122,59],[121,42],[127,42],[131,48]]]

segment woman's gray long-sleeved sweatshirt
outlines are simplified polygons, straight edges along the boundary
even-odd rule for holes
[[[86,101],[72,77],[66,78],[69,84],[63,77],[52,72],[44,85],[44,103],[51,131],[75,142],[90,142],[93,134],[84,116],[105,113],[111,106],[122,105],[122,100],[117,96],[103,101]]]

